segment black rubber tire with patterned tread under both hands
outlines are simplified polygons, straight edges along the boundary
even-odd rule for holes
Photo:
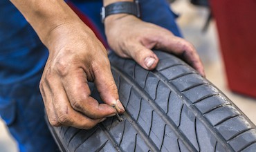
[[[181,59],[155,53],[152,71],[109,55],[123,121],[109,117],[90,130],[49,126],[62,151],[256,151],[255,125],[230,99]]]

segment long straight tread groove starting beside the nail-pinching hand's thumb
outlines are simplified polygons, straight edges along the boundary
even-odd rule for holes
[[[176,124],[173,122],[173,120],[171,120],[169,117],[167,117],[167,115],[162,113],[162,109],[151,99],[151,97],[143,92],[143,89],[136,83],[134,83],[131,78],[128,75],[125,75],[124,73],[122,73],[122,71],[120,71],[118,68],[116,68],[116,66],[111,66],[112,70],[115,70],[116,73],[119,73],[119,75],[122,76],[123,79],[125,79],[127,82],[129,82],[129,84],[131,84],[132,88],[134,88],[136,91],[138,91],[138,93],[146,100],[148,101],[149,105],[152,106],[152,108],[154,109],[154,111],[156,111],[156,113],[158,113],[158,115],[163,119],[163,121],[165,122],[165,124],[167,124],[168,126],[171,127],[171,129],[174,131],[174,133],[180,137],[180,140],[183,141],[183,143],[185,144],[185,146],[187,146],[187,148],[190,151],[196,151],[196,148],[192,145],[192,143],[188,140],[187,137],[185,137],[185,135],[183,135],[183,133],[181,133],[181,131],[176,130],[177,126]],[[153,73],[154,74],[154,73]],[[148,74],[147,74],[148,75]],[[155,74],[154,74],[155,75]],[[158,77],[159,78],[159,77]],[[163,79],[160,79],[163,80]],[[163,81],[164,82],[164,81]]]

